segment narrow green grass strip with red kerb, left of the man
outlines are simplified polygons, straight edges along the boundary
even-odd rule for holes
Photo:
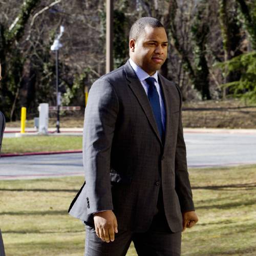
[[[81,150],[82,136],[28,136],[4,138],[2,154]]]

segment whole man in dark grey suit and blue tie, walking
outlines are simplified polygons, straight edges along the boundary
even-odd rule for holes
[[[86,224],[88,256],[180,255],[197,221],[179,88],[158,74],[167,36],[154,18],[130,31],[130,59],[94,82],[84,116],[86,182],[70,205]]]

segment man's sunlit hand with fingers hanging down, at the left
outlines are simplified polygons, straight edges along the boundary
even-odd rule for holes
[[[115,240],[115,233],[118,232],[114,212],[112,210],[96,212],[93,219],[97,236],[103,242],[113,242]]]

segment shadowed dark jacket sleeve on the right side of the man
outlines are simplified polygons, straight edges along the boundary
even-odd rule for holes
[[[195,210],[195,207],[187,172],[186,145],[183,136],[181,118],[182,96],[178,86],[177,89],[180,95],[180,116],[175,153],[175,189],[179,197],[181,212],[185,212]]]

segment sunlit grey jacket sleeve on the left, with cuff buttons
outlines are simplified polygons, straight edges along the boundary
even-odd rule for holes
[[[118,108],[112,84],[98,79],[89,92],[84,114],[83,167],[88,215],[113,209],[110,159]]]

